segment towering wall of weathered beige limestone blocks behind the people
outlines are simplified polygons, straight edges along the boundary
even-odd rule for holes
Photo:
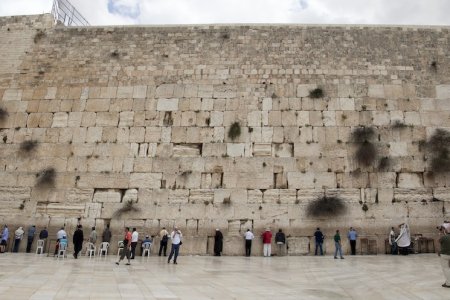
[[[0,222],[13,230],[72,232],[81,218],[85,234],[111,223],[115,243],[124,225],[176,224],[183,252],[206,254],[220,228],[225,254],[242,254],[247,228],[283,228],[305,254],[315,227],[354,226],[384,252],[390,226],[436,237],[449,218],[449,174],[421,147],[450,127],[449,28],[66,28],[40,15],[0,18],[0,39]],[[376,136],[368,165],[360,126]],[[48,168],[55,184],[41,186]],[[347,211],[308,216],[324,195]]]

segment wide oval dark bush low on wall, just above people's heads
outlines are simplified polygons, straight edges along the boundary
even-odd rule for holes
[[[345,213],[344,201],[339,197],[319,197],[310,202],[306,208],[306,213],[311,217],[333,217]]]

